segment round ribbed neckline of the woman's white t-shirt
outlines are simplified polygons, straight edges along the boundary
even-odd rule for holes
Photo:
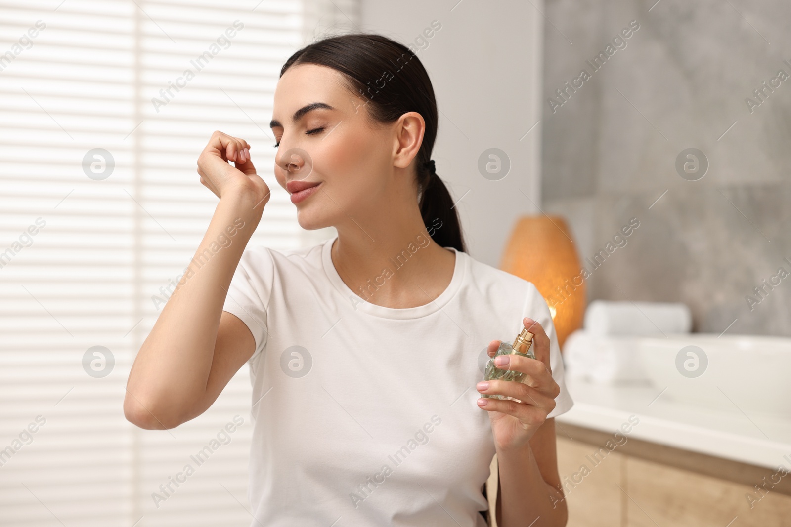
[[[448,287],[445,288],[445,291],[441,292],[437,298],[433,299],[429,303],[423,304],[422,306],[379,306],[375,303],[368,302],[360,295],[352,291],[338,274],[338,270],[335,269],[335,264],[332,263],[331,256],[332,244],[335,243],[335,239],[338,239],[337,235],[335,238],[326,240],[321,250],[321,259],[324,266],[324,273],[327,274],[327,278],[330,280],[331,284],[343,296],[343,298],[346,299],[346,302],[349,303],[352,309],[364,311],[365,313],[373,314],[377,317],[420,318],[428,314],[435,313],[436,311],[440,311],[442,307],[444,307],[445,304],[448,303],[448,301],[452,299],[454,295],[456,295],[456,292],[459,291],[462,281],[464,280],[464,275],[467,272],[467,254],[461,252],[460,250],[456,250],[456,247],[445,247],[445,249],[450,249],[456,253],[456,262],[453,265],[453,277],[451,278]],[[392,268],[390,268],[390,270],[393,271]],[[397,270],[395,272],[397,272]]]

